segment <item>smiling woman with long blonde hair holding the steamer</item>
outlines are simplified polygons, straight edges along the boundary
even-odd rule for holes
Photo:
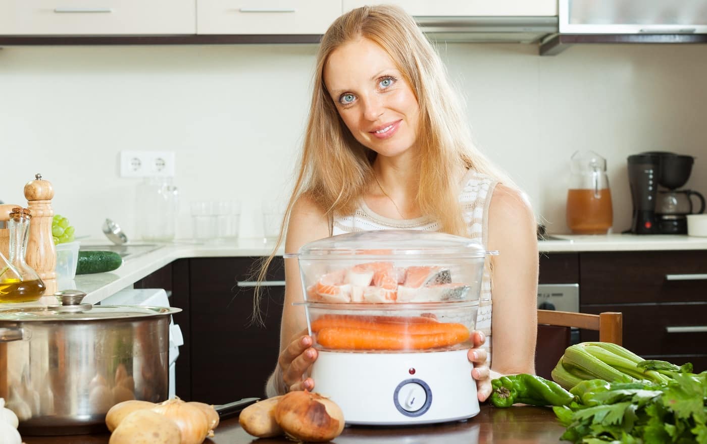
[[[479,328],[486,331],[474,332],[468,353],[484,401],[491,378],[534,371],[537,240],[530,205],[469,142],[455,97],[438,54],[402,9],[365,6],[339,17],[317,54],[285,251],[385,228],[471,236],[500,251],[482,283]],[[303,301],[296,260],[286,260],[285,272],[281,353],[269,396],[316,386],[305,375],[317,351],[303,308],[292,305]]]

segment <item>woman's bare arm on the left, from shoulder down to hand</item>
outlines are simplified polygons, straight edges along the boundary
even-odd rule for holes
[[[296,253],[304,244],[327,236],[329,224],[325,213],[307,196],[300,197],[290,215],[285,252]],[[291,380],[295,373],[301,376],[311,364],[303,356],[308,344],[300,343],[301,337],[306,335],[305,311],[302,306],[292,305],[303,300],[298,261],[285,259],[285,302],[280,325],[280,358],[267,383],[266,392],[269,397],[290,390],[291,384],[285,380]]]

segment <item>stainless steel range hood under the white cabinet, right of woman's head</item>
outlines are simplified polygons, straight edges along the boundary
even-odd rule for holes
[[[537,43],[558,32],[553,16],[415,16],[437,42]]]

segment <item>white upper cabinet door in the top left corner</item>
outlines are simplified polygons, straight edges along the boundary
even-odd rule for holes
[[[0,0],[0,35],[194,34],[196,0]]]

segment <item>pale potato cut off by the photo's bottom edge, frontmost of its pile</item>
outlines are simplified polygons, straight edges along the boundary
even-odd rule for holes
[[[108,444],[180,444],[175,421],[151,410],[132,412],[113,431]]]

